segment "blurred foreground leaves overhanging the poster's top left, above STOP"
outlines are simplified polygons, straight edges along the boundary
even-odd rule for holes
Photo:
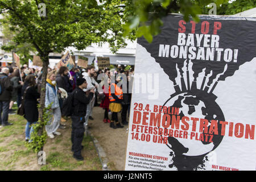
[[[197,14],[202,13],[201,7],[207,6],[212,0],[133,0],[129,5],[135,11],[130,14],[128,21],[123,26],[125,35],[137,30],[137,37],[144,36],[148,42],[160,33],[163,25],[162,18],[169,13],[184,14],[184,20],[188,21],[192,16],[195,22],[199,22]],[[138,29],[137,29],[138,28]]]

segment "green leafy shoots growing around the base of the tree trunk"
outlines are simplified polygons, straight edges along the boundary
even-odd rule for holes
[[[40,105],[38,105],[40,107]],[[33,150],[34,152],[39,152],[42,150],[44,144],[46,143],[47,133],[43,130],[42,134],[39,134],[39,130],[44,129],[47,125],[47,122],[52,118],[52,113],[49,111],[51,109],[51,104],[48,107],[44,107],[43,109],[43,119],[38,119],[38,122],[32,124],[33,132],[31,133],[30,139],[31,142],[28,142],[26,146]]]

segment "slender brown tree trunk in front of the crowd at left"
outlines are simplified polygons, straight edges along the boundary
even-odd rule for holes
[[[40,90],[40,108],[39,108],[39,119],[41,122],[43,121],[43,110],[44,110],[44,104],[46,101],[46,76],[48,72],[48,65],[49,65],[49,55],[40,56],[41,60],[43,61],[43,68],[42,68],[42,84],[41,84],[41,90]],[[43,134],[43,127],[39,129],[38,135]],[[43,146],[40,148],[40,151],[43,151]]]

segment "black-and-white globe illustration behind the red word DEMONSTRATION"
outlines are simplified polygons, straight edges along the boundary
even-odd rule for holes
[[[204,157],[221,143],[223,136],[220,135],[221,125],[219,122],[225,121],[225,118],[220,106],[215,102],[216,98],[214,94],[209,94],[203,90],[193,90],[193,92],[174,93],[164,103],[163,106],[179,107],[180,118],[184,116],[189,117],[187,139],[168,137],[168,143],[171,146],[169,147],[171,148],[170,154],[175,156],[172,159],[174,163],[171,164],[170,167],[175,166],[178,170],[193,170],[202,164]],[[196,131],[192,131],[193,121],[191,118],[199,118],[199,121],[196,122]],[[218,134],[213,134],[212,142],[208,142],[208,140],[205,139],[205,135],[204,140],[198,140],[200,135],[200,118],[208,120],[208,131],[211,121],[217,121]],[[197,140],[196,137],[191,138],[191,132],[198,134]],[[208,134],[203,130],[203,134],[204,133]]]

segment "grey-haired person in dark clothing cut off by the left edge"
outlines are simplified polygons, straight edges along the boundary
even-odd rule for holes
[[[9,106],[11,101],[11,92],[13,91],[13,82],[8,77],[9,68],[2,68],[0,72],[0,124],[2,126],[13,125],[8,122]]]

